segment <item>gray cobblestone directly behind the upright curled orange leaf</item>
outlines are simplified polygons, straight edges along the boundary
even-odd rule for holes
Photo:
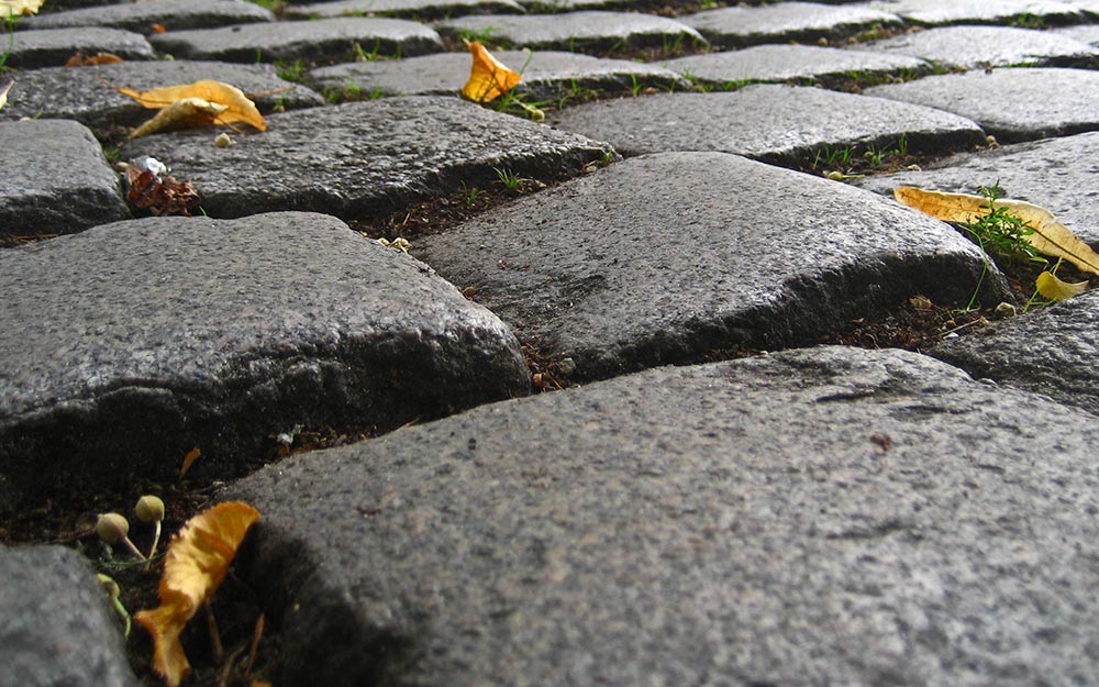
[[[522,70],[517,92],[542,100],[574,91],[630,93],[635,88],[687,88],[690,82],[657,65],[626,59],[599,59],[578,53],[499,51],[492,55]],[[379,59],[321,67],[309,78],[326,89],[359,95],[457,95],[469,78],[467,53],[441,53],[408,59]]]

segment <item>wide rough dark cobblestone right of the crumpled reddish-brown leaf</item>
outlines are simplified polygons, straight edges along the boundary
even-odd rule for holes
[[[457,98],[349,102],[273,114],[267,125],[227,148],[197,131],[137,138],[122,153],[152,155],[192,180],[211,217],[315,210],[348,220],[490,182],[495,168],[552,180],[609,154],[607,144]]]

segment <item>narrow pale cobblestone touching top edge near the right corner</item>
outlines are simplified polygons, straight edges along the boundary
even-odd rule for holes
[[[1083,12],[1072,2],[1048,0],[887,0],[872,2],[870,7],[886,8],[919,24],[1031,22],[1045,25],[1084,20]]]

